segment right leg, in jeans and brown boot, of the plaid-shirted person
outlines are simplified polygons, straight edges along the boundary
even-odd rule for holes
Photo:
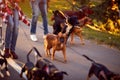
[[[12,37],[11,37],[10,52],[12,54],[12,57],[14,59],[17,59],[18,56],[15,53],[15,47],[16,47],[18,31],[19,31],[19,14],[16,9],[13,10],[13,21],[14,21],[14,27],[13,27]]]

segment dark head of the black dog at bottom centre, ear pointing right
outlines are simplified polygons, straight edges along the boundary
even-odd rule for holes
[[[68,75],[68,74],[64,71],[60,71],[60,72],[56,71],[51,74],[50,80],[63,80],[64,75]]]

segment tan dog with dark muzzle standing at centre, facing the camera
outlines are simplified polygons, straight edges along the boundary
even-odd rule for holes
[[[64,61],[66,62],[66,34],[58,33],[55,34],[47,34],[44,39],[44,48],[46,52],[46,56],[51,55],[51,59],[54,60],[55,51],[62,50]],[[50,53],[50,49],[52,48],[52,54]]]

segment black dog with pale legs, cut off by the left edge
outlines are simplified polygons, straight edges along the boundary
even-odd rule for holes
[[[3,69],[6,70],[7,76],[10,76],[10,72],[8,70],[8,62],[7,62],[6,58],[3,55],[1,55],[1,53],[0,53],[0,76],[2,78],[4,78],[4,75],[1,72],[1,70],[3,70]]]

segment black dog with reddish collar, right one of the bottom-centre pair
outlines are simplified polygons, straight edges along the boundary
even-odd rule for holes
[[[63,80],[64,75],[68,75],[65,71],[60,71],[56,66],[50,62],[48,59],[43,58],[40,53],[37,53],[39,58],[36,62],[36,67],[40,70],[46,71],[49,80]]]

